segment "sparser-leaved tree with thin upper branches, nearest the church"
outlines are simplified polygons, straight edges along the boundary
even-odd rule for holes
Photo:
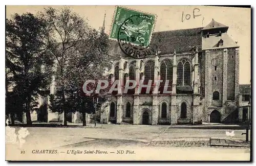
[[[96,96],[84,96],[82,85],[88,79],[105,79],[104,69],[110,63],[109,39],[68,7],[50,7],[39,16],[47,22],[47,48],[56,62],[54,77],[59,92],[51,96],[50,108],[64,112],[63,125],[67,125],[68,111],[93,110]]]

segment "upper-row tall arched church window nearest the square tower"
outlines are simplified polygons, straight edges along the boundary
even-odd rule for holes
[[[190,85],[190,63],[186,59],[182,59],[177,65],[177,85]]]

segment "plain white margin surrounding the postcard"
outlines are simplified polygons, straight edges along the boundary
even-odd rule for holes
[[[252,8],[255,7],[256,5],[256,1],[249,1],[249,0],[243,0],[243,5],[252,5]],[[1,106],[2,106],[2,126],[4,126],[4,122],[5,122],[5,81],[4,81],[4,67],[5,67],[5,5],[241,5],[241,1],[223,1],[223,0],[215,0],[215,1],[198,1],[198,0],[194,0],[194,1],[166,1],[166,0],[157,0],[157,1],[150,1],[150,0],[130,0],[130,1],[120,1],[120,0],[109,0],[109,1],[78,1],[78,0],[73,0],[73,1],[50,1],[50,0],[44,0],[44,1],[18,1],[18,0],[15,0],[15,1],[8,1],[8,2],[5,2],[5,1],[1,1],[1,8],[0,8],[0,11],[1,11],[1,16],[2,16],[2,25],[0,26],[0,29],[1,29],[1,37],[0,37],[0,41],[1,41],[1,60],[0,60],[0,63],[2,66],[2,69],[0,70],[0,74],[1,74],[1,78],[2,78],[2,82],[1,82],[1,91],[0,91],[0,94],[1,94]],[[4,4],[6,3],[6,4]],[[234,18],[235,19],[235,18]],[[255,17],[252,17],[253,19],[253,22],[255,21]],[[252,33],[253,34],[253,38],[255,36],[255,33]],[[252,39],[253,40],[253,39]],[[255,47],[255,42],[253,42],[253,45],[251,45],[253,48],[256,48]],[[254,55],[254,50],[252,52],[252,56]],[[253,63],[255,64],[256,62],[256,59],[253,58]],[[256,75],[256,67],[253,67],[252,66],[252,70],[253,70],[253,75],[254,75],[254,79],[255,79],[255,75]],[[254,87],[255,85],[255,80],[253,81],[253,84],[252,84],[252,87]],[[252,90],[252,92],[254,92],[254,88]],[[253,96],[254,97],[254,96]],[[255,99],[256,100],[256,99]],[[253,98],[253,101],[252,103],[255,103],[255,100]],[[255,106],[253,104],[253,106]],[[252,112],[254,112],[254,110],[252,110]],[[255,118],[255,115],[256,113],[254,112],[253,113],[253,120]],[[1,165],[7,165],[9,164],[8,162],[5,161],[5,128],[4,127],[0,127],[1,129],[1,132],[2,132],[2,136],[1,136]],[[255,145],[255,143],[254,143]],[[254,146],[252,147],[254,148]],[[254,153],[253,153],[254,154]],[[19,163],[12,163],[12,165],[17,165]],[[28,164],[28,163],[24,163],[24,164]],[[33,164],[33,165],[36,165],[36,164],[45,164],[44,162],[40,162],[40,163],[30,163],[30,164]],[[57,164],[57,163],[48,163],[48,164]],[[73,164],[78,164],[78,163],[60,163],[60,164],[69,164],[69,165],[73,165]],[[86,165],[91,165],[93,163],[79,163],[79,164],[86,164]],[[99,164],[99,163],[95,163],[95,164]],[[113,164],[113,163],[100,163],[100,164]],[[135,163],[129,163],[129,164],[135,164]],[[141,163],[140,163],[141,164]],[[147,163],[143,163],[143,164],[148,164]],[[155,162],[153,164],[156,164]],[[177,164],[177,163],[165,163],[165,164]],[[182,163],[184,164],[184,163]],[[186,163],[186,164],[191,164],[191,163]],[[195,164],[198,164],[198,163],[195,163]],[[203,163],[205,164],[205,163]],[[207,163],[208,164],[208,163]],[[214,164],[221,164],[221,163],[214,163]],[[225,163],[225,164],[232,164],[233,163]]]

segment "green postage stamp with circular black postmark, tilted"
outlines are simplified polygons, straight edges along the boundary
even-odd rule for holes
[[[117,7],[110,38],[135,45],[148,46],[156,16],[122,7]]]

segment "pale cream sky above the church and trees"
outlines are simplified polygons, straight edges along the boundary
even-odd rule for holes
[[[6,17],[14,13],[22,14],[30,12],[36,14],[47,6],[7,6]],[[52,6],[61,8],[61,6]],[[110,33],[115,6],[70,6],[71,9],[81,17],[88,18],[89,25],[95,29],[102,27],[104,13],[105,32]],[[177,29],[189,29],[205,27],[214,18],[216,21],[229,27],[227,33],[240,45],[240,84],[250,83],[250,56],[251,56],[251,10],[250,8],[230,7],[206,7],[206,6],[123,6],[144,13],[151,13],[157,16],[153,32],[168,31]],[[193,10],[195,15],[193,17]],[[183,21],[182,21],[183,13]],[[186,14],[190,18],[185,19]],[[189,16],[187,16],[188,18]]]

